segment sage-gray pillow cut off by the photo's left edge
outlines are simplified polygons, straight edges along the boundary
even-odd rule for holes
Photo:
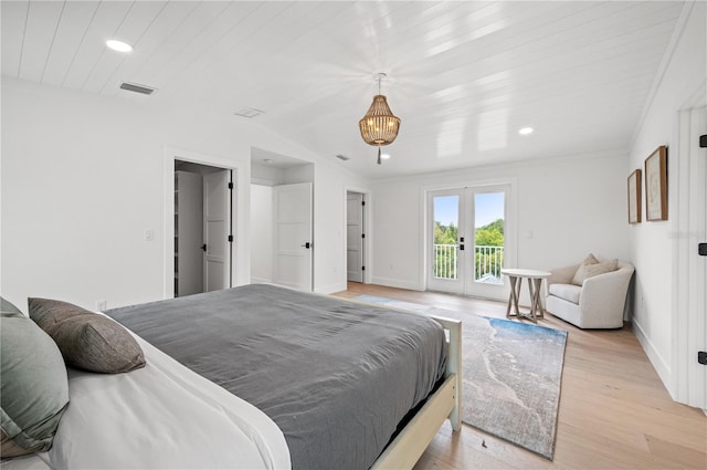
[[[68,405],[62,354],[46,333],[2,300],[0,315],[0,456],[48,450]]]

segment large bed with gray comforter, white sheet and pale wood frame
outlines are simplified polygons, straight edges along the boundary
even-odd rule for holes
[[[70,370],[50,468],[412,468],[461,426],[456,321],[266,284],[106,314],[147,366]]]

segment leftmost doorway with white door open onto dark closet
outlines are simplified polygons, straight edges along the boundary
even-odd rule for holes
[[[175,159],[175,296],[232,285],[232,170]]]

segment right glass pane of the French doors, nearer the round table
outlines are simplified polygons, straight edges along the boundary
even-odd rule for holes
[[[474,195],[474,281],[503,284],[505,194]]]

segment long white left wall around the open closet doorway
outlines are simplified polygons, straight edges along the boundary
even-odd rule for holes
[[[115,307],[162,299],[169,149],[214,156],[236,168],[234,283],[250,282],[252,146],[318,158],[233,116],[154,109],[2,77],[0,292],[23,310],[28,296],[88,309],[99,300]],[[315,238],[324,240],[342,220],[344,188],[361,181],[316,163],[327,178],[321,188],[315,181],[315,199],[326,200],[315,200]],[[338,207],[328,201],[334,199]],[[148,229],[154,241],[144,240]],[[317,249],[315,290],[346,286],[344,255],[331,249]]]

